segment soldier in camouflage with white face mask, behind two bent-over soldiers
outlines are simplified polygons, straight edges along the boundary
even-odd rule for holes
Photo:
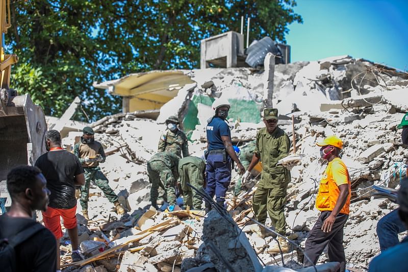
[[[183,131],[177,128],[178,124],[179,119],[177,116],[173,115],[167,118],[167,129],[160,137],[158,152],[172,152],[180,158],[182,157],[183,152],[183,157],[188,157],[190,155],[188,153],[187,136]]]

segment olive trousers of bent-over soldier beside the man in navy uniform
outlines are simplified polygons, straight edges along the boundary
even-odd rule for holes
[[[194,210],[201,210],[202,199],[197,192],[189,187],[190,183],[198,190],[204,185],[203,173],[192,163],[188,163],[179,168],[180,185],[183,190],[184,206],[188,205]],[[194,190],[194,192],[193,192]]]

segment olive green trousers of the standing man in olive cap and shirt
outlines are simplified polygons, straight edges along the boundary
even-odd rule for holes
[[[265,224],[267,213],[277,233],[286,235],[286,187],[258,187],[252,197],[252,208],[257,220]]]

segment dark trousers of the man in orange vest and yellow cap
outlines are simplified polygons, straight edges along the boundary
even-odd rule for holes
[[[320,254],[328,244],[328,259],[330,262],[341,263],[341,271],[346,269],[346,256],[343,248],[343,227],[346,224],[348,214],[339,213],[330,232],[323,232],[323,221],[330,215],[331,211],[321,212],[313,229],[309,232],[304,246],[304,266],[312,266],[317,263]],[[312,261],[310,262],[308,258]]]

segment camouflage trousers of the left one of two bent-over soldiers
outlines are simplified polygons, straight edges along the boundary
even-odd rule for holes
[[[167,196],[167,203],[175,205],[175,188],[174,176],[171,169],[162,161],[148,161],[147,173],[151,183],[150,201],[156,203],[159,196],[159,187],[164,188],[165,196]]]

